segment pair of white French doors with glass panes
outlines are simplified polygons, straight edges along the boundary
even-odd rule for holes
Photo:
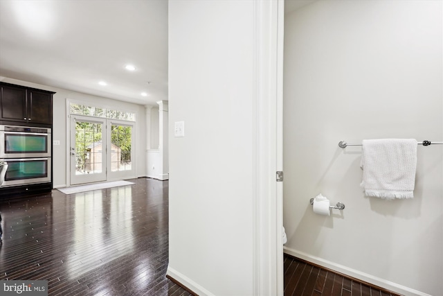
[[[71,185],[135,177],[134,123],[71,114]]]

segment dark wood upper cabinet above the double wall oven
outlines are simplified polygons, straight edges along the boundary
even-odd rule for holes
[[[42,89],[33,89],[0,82],[1,121],[20,122],[26,125],[52,125],[53,94]]]

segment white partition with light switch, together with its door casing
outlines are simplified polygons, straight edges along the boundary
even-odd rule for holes
[[[168,275],[199,295],[282,294],[282,227],[269,218],[276,141],[266,141],[276,124],[278,3],[169,2]]]

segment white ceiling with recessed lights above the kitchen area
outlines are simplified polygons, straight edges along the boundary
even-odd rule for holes
[[[311,2],[287,0],[286,11]],[[4,77],[141,105],[168,100],[168,1],[0,0]]]

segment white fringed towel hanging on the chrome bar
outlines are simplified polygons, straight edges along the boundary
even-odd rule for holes
[[[366,196],[386,200],[413,198],[417,167],[417,140],[363,140],[361,155]]]

